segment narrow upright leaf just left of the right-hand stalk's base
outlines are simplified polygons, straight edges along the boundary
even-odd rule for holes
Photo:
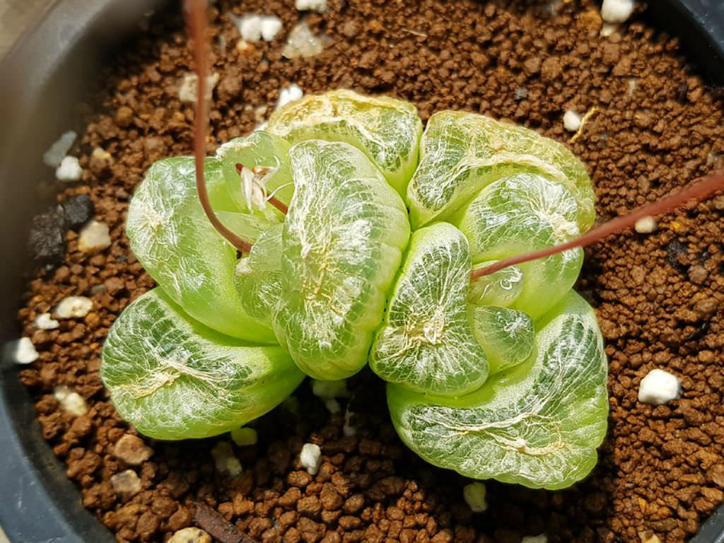
[[[452,224],[413,232],[372,345],[372,371],[439,395],[462,395],[485,382],[487,358],[468,320],[470,272],[468,240]]]

